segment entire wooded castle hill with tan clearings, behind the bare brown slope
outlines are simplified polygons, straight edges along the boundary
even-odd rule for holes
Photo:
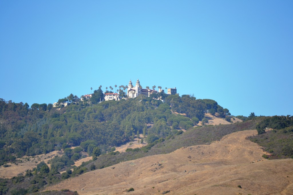
[[[229,110],[214,100],[197,100],[189,95],[170,95],[165,100],[163,103],[151,97],[137,97],[95,104],[90,99],[71,102],[58,109],[47,109],[44,104],[29,108],[27,104],[1,100],[0,165],[3,166],[0,173],[2,178],[12,178],[0,179],[0,193],[30,194],[44,186],[87,175],[91,170],[106,170],[104,167],[131,163],[130,160],[135,159],[137,162],[153,161],[156,155],[172,162],[169,158],[176,159],[172,154],[182,147],[204,144],[200,152],[207,154],[209,147],[223,136],[255,129],[259,122],[256,116],[250,118],[255,120],[246,122],[234,120]],[[184,114],[178,114],[178,111]],[[205,124],[199,122],[203,120]],[[207,150],[201,151],[205,146]],[[218,151],[219,148],[215,146],[215,153],[223,153]],[[62,151],[63,155],[50,155],[57,151]],[[29,161],[27,156],[30,156]],[[49,160],[48,156],[53,158]],[[229,158],[226,156],[225,159]],[[205,162],[202,160],[198,161],[200,164],[194,164],[201,167]],[[215,164],[222,167],[227,163]],[[149,175],[152,176],[156,177]]]

